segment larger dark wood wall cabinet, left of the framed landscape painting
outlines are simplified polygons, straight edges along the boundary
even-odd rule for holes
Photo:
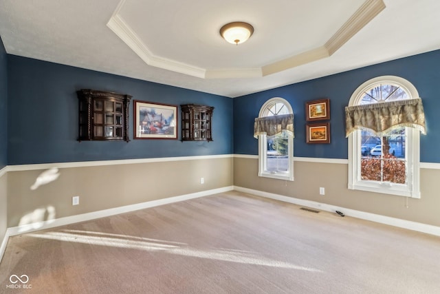
[[[129,142],[130,95],[83,89],[79,101],[78,140]]]

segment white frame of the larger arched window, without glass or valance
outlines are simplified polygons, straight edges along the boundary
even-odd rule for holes
[[[358,87],[351,95],[349,106],[359,105],[364,96],[364,92],[380,84],[397,85],[407,94],[408,98],[419,98],[417,89],[404,78],[399,76],[379,76],[366,81]],[[371,180],[361,180],[361,131],[357,130],[349,135],[349,189],[370,191],[375,193],[386,193],[397,196],[420,198],[420,132],[412,127],[406,127],[406,184],[394,184],[388,182],[375,182]]]

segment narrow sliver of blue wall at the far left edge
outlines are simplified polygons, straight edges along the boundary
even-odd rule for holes
[[[0,37],[0,169],[8,163],[8,55]]]

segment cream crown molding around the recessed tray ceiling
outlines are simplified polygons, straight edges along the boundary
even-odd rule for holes
[[[351,37],[357,34],[386,7],[383,0],[366,0],[350,19],[342,25],[338,32],[333,34],[324,45],[313,50],[257,68],[207,70],[154,55],[139,36],[137,36],[135,31],[131,29],[120,16],[120,10],[122,10],[125,1],[126,0],[120,1],[115,12],[113,12],[113,15],[109,19],[107,26],[119,36],[131,50],[140,56],[147,65],[198,78],[259,78],[327,58],[338,51],[342,45],[347,43]]]

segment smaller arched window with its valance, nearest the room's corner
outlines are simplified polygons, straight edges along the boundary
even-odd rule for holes
[[[294,112],[283,98],[271,98],[254,123],[259,139],[259,176],[294,180]]]

